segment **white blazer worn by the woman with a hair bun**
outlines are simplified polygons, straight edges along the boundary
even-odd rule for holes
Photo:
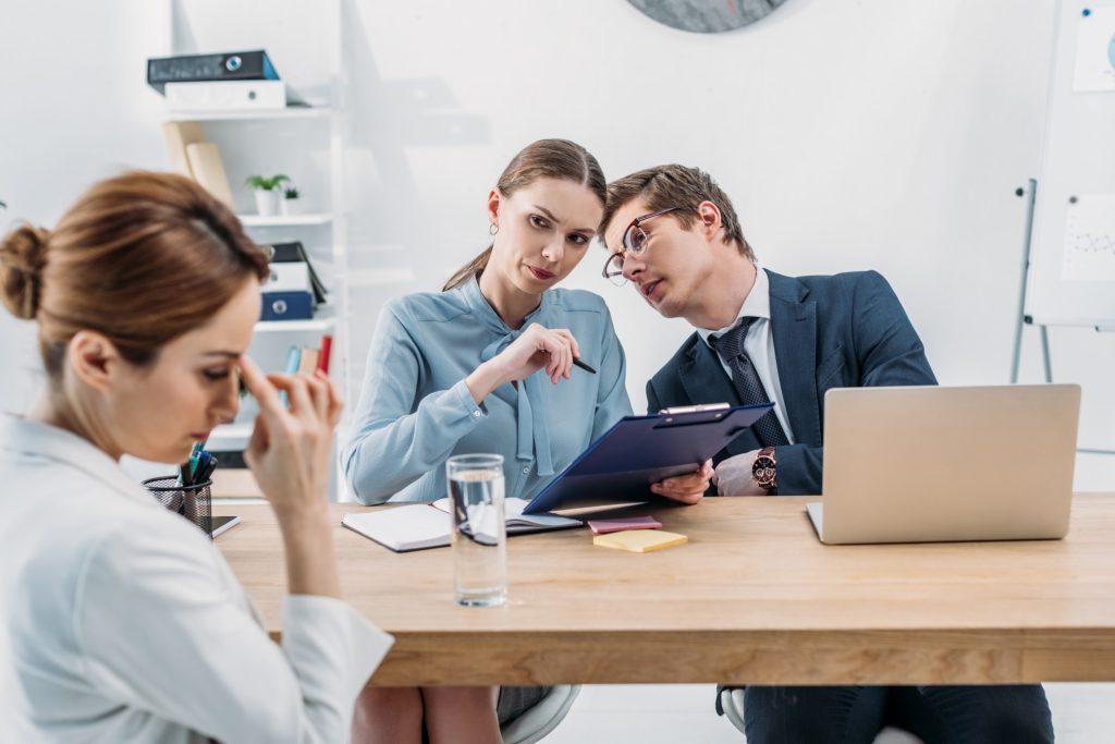
[[[288,596],[274,644],[212,541],[62,429],[0,416],[0,741],[348,741],[392,642],[349,605]]]

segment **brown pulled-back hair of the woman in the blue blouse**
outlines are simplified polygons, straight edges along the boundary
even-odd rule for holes
[[[601,206],[608,197],[608,182],[600,163],[592,153],[569,139],[539,139],[521,149],[504,168],[496,189],[504,196],[511,196],[539,178],[561,178],[588,186],[600,200]],[[488,245],[487,250],[457,269],[442,291],[447,292],[479,274],[491,258],[492,247]]]

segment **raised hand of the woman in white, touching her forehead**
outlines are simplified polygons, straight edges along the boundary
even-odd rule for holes
[[[248,356],[240,358],[244,385],[260,404],[244,460],[275,513],[321,509],[329,483],[332,433],[341,400],[323,373],[264,375]],[[279,392],[287,393],[290,407]]]

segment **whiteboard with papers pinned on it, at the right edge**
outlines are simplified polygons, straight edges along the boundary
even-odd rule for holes
[[[1115,328],[1115,0],[1057,6],[1026,315]]]

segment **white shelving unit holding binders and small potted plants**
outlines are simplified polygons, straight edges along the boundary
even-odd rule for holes
[[[282,109],[167,112],[165,119],[203,123],[206,139],[221,149],[237,206],[244,210],[237,216],[249,235],[263,244],[301,241],[328,290],[328,302],[319,306],[312,319],[258,322],[249,354],[268,371],[281,371],[291,346],[318,347],[321,336],[329,334],[333,339],[330,376],[343,395],[350,385],[349,298],[343,280],[348,264],[347,118],[340,0],[312,4],[278,0],[266,6],[268,13],[301,23],[307,39],[320,42],[297,48],[289,46],[289,37],[269,38],[268,25],[254,22],[252,15],[260,8],[253,10],[253,3],[166,2],[167,55],[266,49],[280,77],[310,103]],[[304,22],[294,21],[299,13],[304,15]],[[275,216],[248,213],[252,202],[243,182],[252,173],[288,174],[302,190],[302,202],[309,202],[313,209]],[[309,194],[307,184],[312,184]],[[253,418],[254,406],[243,406],[234,423],[213,432],[209,448],[243,448],[251,436]],[[330,499],[336,501],[343,492],[339,468],[331,480]]]

